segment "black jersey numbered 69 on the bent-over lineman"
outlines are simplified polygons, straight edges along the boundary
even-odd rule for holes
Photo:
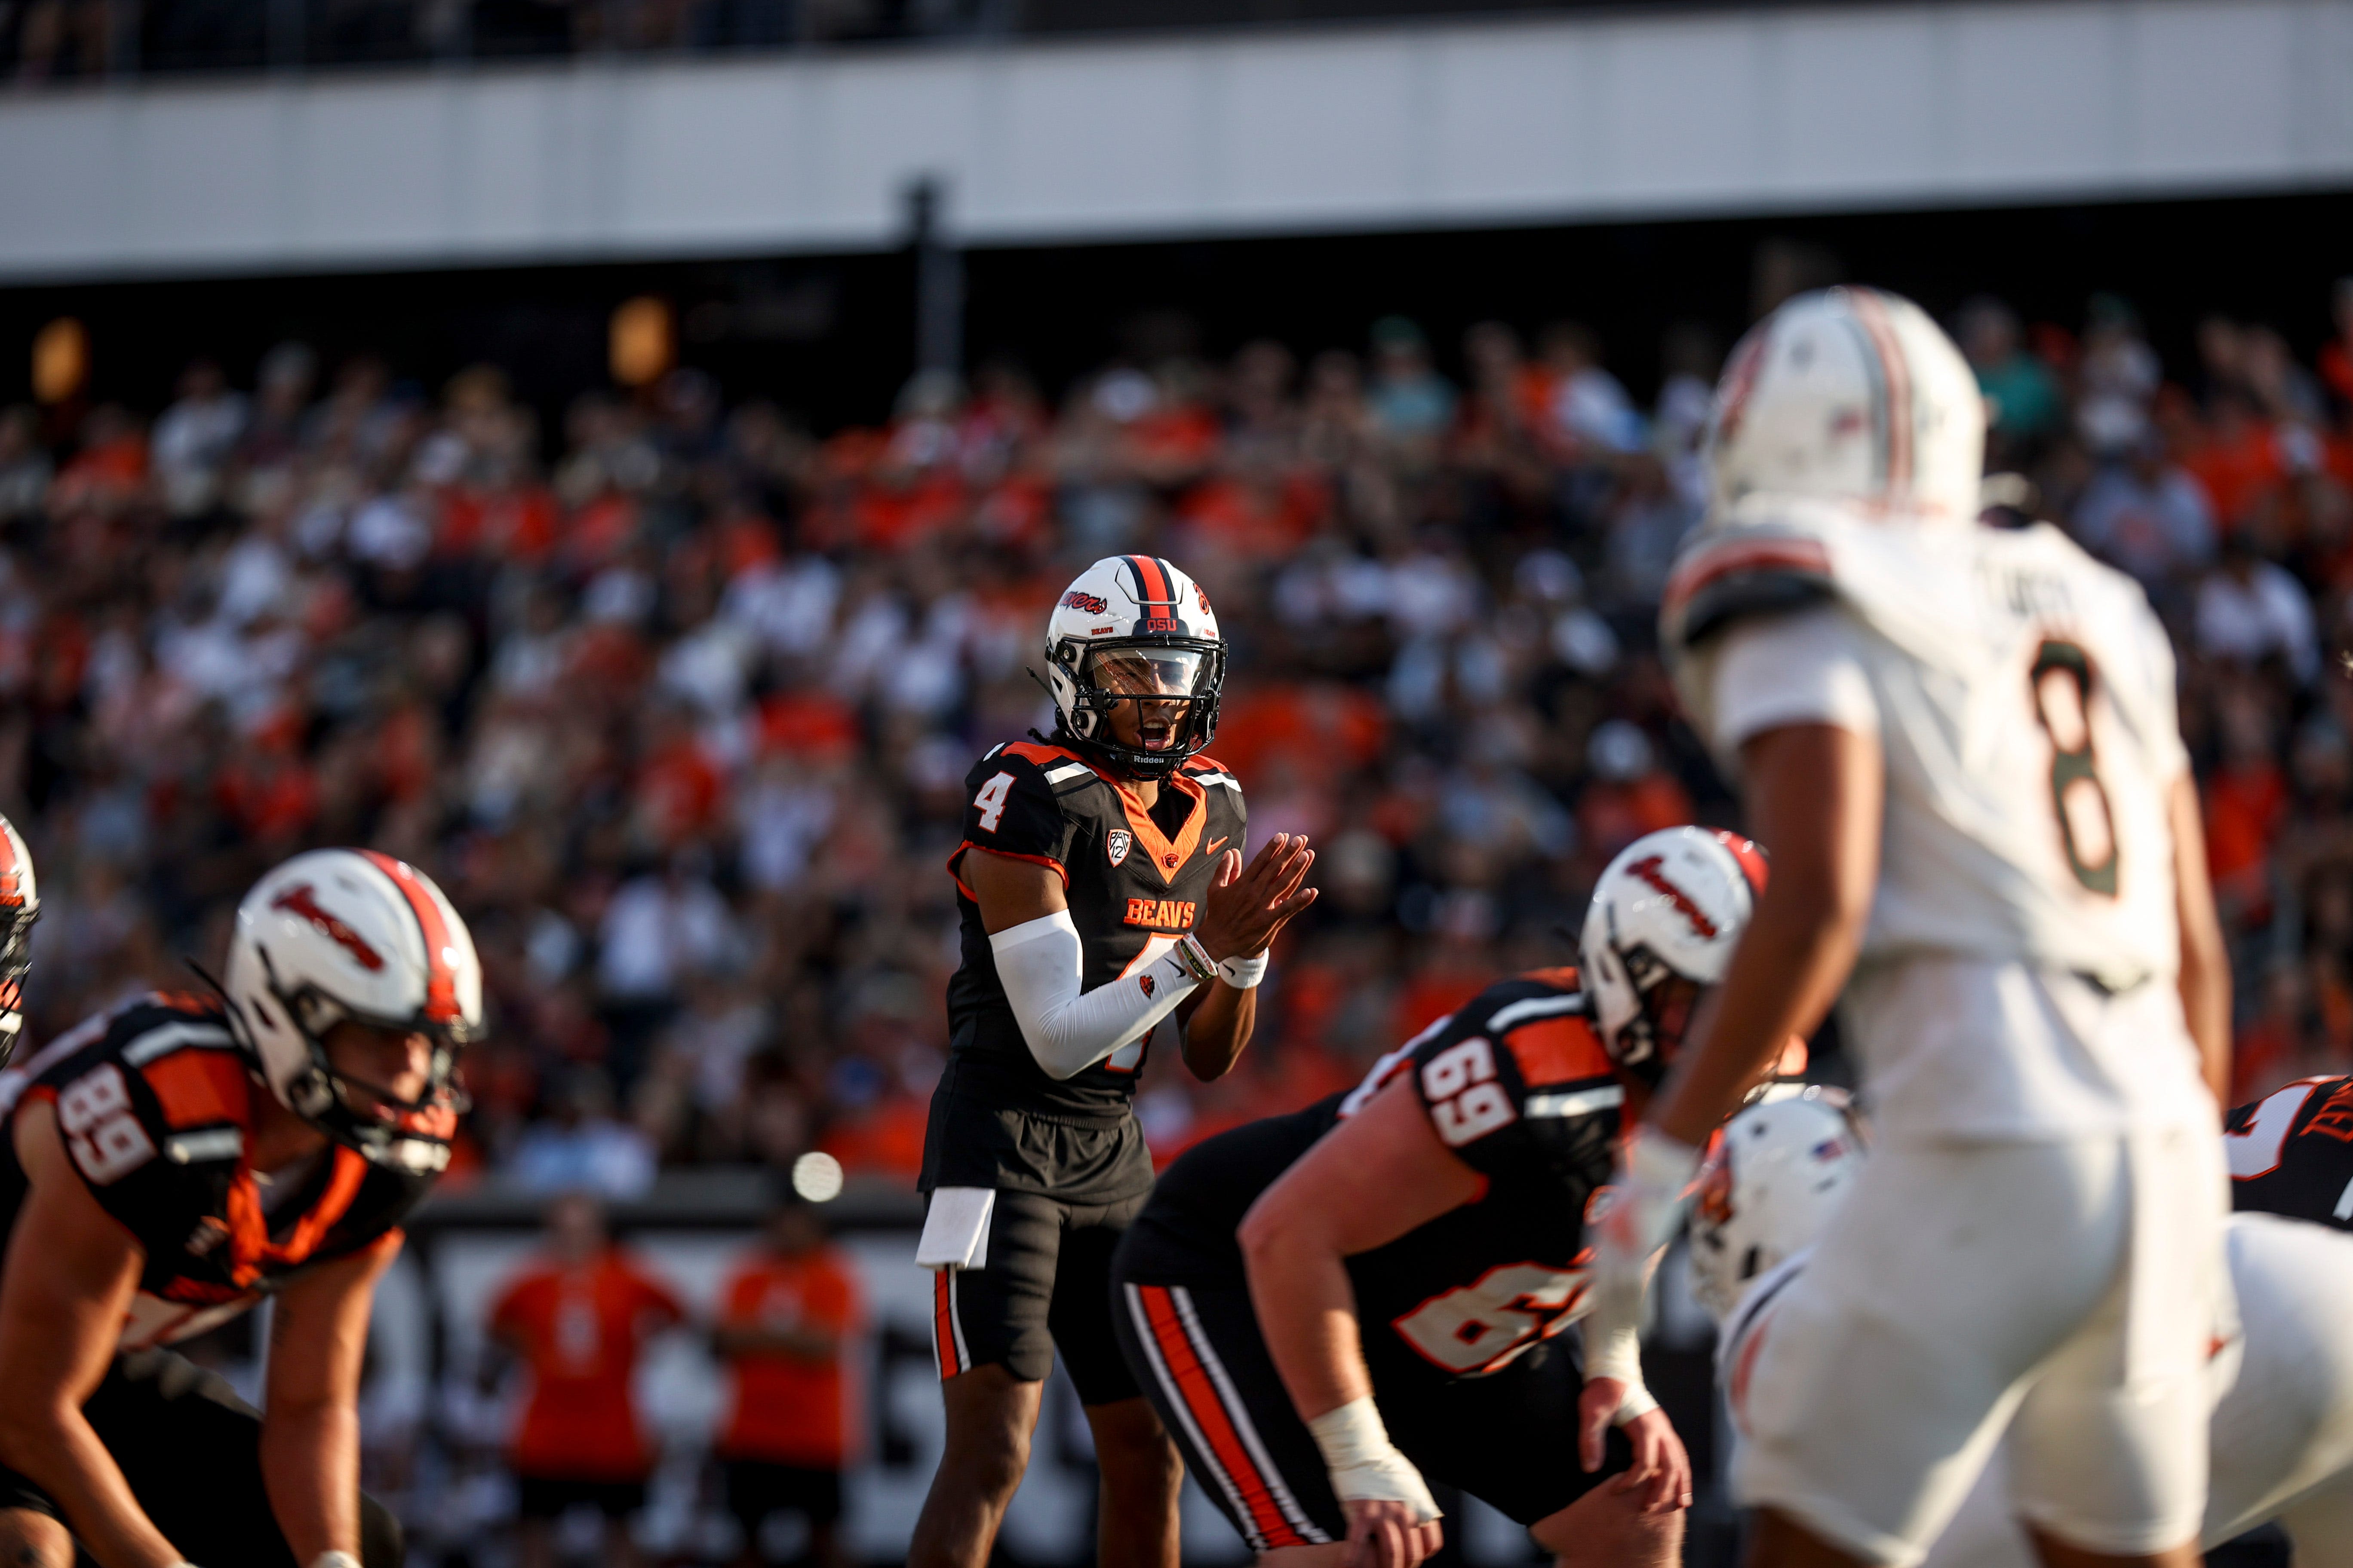
[[[1191,1150],[1153,1190],[1122,1267],[1144,1284],[1242,1279],[1249,1206],[1398,1074],[1487,1190],[1348,1260],[1374,1380],[1482,1378],[1565,1331],[1588,1305],[1586,1208],[1609,1182],[1624,1103],[1572,969],[1499,980],[1348,1095]]]

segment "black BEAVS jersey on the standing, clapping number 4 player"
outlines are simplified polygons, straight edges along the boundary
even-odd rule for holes
[[[1242,785],[1224,764],[1193,757],[1146,811],[1129,785],[1078,752],[1021,741],[972,764],[965,790],[965,842],[948,858],[962,966],[948,980],[948,1070],[932,1095],[922,1187],[1085,1190],[1104,1201],[1139,1192],[1151,1185],[1151,1157],[1129,1103],[1151,1041],[1068,1079],[1047,1077],[998,980],[981,907],[962,882],[965,856],[981,849],[1061,875],[1085,954],[1080,990],[1094,990],[1155,961],[1200,922],[1219,858],[1242,846]]]

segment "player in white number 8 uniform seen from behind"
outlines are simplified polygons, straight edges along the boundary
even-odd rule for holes
[[[1661,639],[1774,879],[1628,1145],[1600,1335],[1744,1084],[1842,999],[1880,1152],[1755,1352],[1751,1561],[1920,1561],[2007,1429],[2047,1563],[2186,1568],[2231,980],[2174,663],[2129,578],[1977,522],[1981,454],[1904,299],[1793,299],[1725,369]]]

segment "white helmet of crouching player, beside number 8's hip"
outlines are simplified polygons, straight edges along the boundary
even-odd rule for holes
[[[1864,1147],[1840,1088],[1774,1086],[1725,1124],[1692,1199],[1692,1293],[1715,1321],[1748,1281],[1814,1244]]]

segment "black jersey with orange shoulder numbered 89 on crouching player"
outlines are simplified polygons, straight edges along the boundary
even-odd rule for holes
[[[221,1006],[184,994],[139,997],[0,1072],[0,1117],[54,1103],[68,1161],[146,1251],[122,1349],[238,1316],[306,1269],[372,1246],[433,1187],[431,1175],[329,1145],[282,1201],[264,1204],[245,1164],[261,1095]],[[24,1197],[16,1143],[0,1138],[0,1255]]]

